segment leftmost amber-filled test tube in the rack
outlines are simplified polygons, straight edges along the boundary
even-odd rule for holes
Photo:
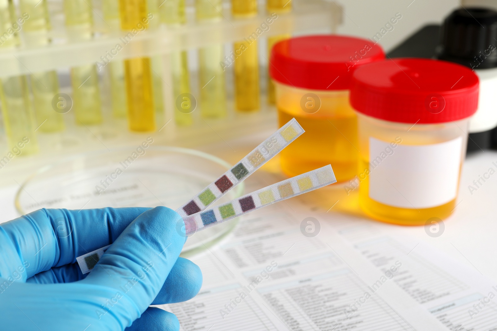
[[[130,31],[147,27],[152,14],[147,13],[146,0],[119,0],[121,29]],[[155,109],[150,58],[124,60],[128,125],[131,131],[154,131]]]

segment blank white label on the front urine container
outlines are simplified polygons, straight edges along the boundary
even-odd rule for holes
[[[369,138],[369,197],[394,207],[430,208],[454,199],[462,137],[430,145]]]

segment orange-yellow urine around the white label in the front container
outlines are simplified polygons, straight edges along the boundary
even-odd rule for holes
[[[424,225],[431,217],[447,218],[456,207],[455,198],[445,204],[430,208],[394,207],[369,198],[369,176],[366,175],[369,170],[368,158],[362,155],[359,162],[359,205],[371,218],[400,225]],[[361,176],[361,174],[364,175]]]

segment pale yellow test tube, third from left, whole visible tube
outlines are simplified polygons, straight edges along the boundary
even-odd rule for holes
[[[92,37],[92,10],[86,0],[64,0],[66,26],[72,40],[88,40]],[[71,68],[73,104],[76,123],[84,125],[102,122],[100,90],[96,65]]]

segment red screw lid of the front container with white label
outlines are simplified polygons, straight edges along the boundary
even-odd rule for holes
[[[350,104],[360,113],[402,123],[444,123],[478,107],[478,76],[469,68],[429,59],[393,59],[354,71]]]

